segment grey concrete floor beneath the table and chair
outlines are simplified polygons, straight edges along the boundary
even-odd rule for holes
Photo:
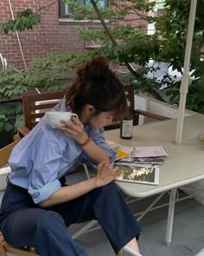
[[[0,201],[3,193],[0,193]],[[140,211],[151,199],[131,204]],[[163,199],[168,200],[168,196]],[[165,245],[166,220],[168,208],[163,207],[148,213],[140,222],[143,233],[139,247],[143,256],[194,256],[204,247],[204,207],[194,200],[183,200],[175,205],[175,219],[172,242]],[[72,225],[69,232],[74,233],[81,225]],[[101,228],[81,235],[77,241],[90,256],[113,256],[112,247]],[[57,256],[57,255],[56,255]]]

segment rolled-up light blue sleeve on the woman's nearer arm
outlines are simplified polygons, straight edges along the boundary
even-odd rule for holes
[[[47,200],[59,188],[57,179],[60,160],[63,154],[60,145],[41,140],[39,147],[33,149],[33,167],[29,173],[29,194],[36,204]]]

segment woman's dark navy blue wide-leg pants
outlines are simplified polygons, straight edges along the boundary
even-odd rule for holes
[[[0,209],[0,228],[13,246],[34,246],[41,256],[87,255],[67,232],[67,224],[98,220],[115,253],[141,228],[112,182],[75,200],[41,208],[26,189],[8,184]]]

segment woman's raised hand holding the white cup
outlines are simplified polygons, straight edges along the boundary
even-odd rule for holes
[[[88,135],[86,135],[84,125],[75,116],[72,117],[71,121],[61,120],[61,123],[65,126],[56,125],[56,128],[69,134],[79,144],[83,144],[87,140]]]

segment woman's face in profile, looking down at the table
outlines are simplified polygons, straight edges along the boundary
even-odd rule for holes
[[[91,124],[92,128],[99,129],[103,128],[107,125],[112,124],[113,112],[101,112],[99,115],[93,115],[89,123]]]

